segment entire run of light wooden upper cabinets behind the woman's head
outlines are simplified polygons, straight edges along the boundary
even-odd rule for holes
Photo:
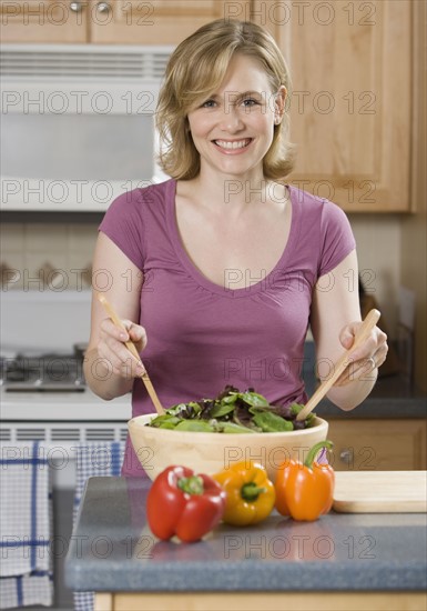
[[[411,32],[421,4],[0,0],[0,10],[4,42],[175,44],[212,19],[252,19],[273,33],[291,68],[291,182],[347,212],[407,212],[421,56]]]

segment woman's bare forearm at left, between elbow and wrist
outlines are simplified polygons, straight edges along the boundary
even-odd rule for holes
[[[133,378],[126,379],[113,373],[111,367],[93,348],[84,355],[84,377],[89,388],[105,401],[126,394],[132,390]]]

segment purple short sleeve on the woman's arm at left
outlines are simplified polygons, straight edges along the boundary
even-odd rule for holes
[[[140,270],[144,267],[144,190],[119,196],[99,227]]]

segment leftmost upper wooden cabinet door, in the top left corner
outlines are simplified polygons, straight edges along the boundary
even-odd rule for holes
[[[2,42],[88,42],[87,2],[0,0]]]

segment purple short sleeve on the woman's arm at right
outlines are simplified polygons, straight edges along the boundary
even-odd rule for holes
[[[323,202],[321,237],[319,277],[336,268],[356,248],[352,227],[345,212],[327,200]]]

